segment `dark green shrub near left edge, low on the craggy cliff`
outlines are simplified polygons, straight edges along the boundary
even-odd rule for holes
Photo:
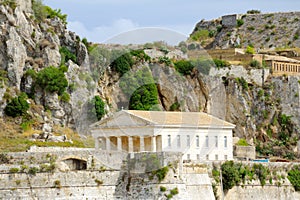
[[[27,95],[22,93],[20,96],[13,98],[5,107],[4,111],[7,116],[18,117],[24,115],[29,109]]]

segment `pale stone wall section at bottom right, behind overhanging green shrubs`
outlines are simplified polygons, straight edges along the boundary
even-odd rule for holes
[[[216,195],[219,199],[224,200],[294,200],[299,199],[300,192],[296,192],[294,187],[291,185],[287,178],[287,173],[292,169],[293,165],[298,163],[280,163],[280,162],[269,162],[269,163],[257,163],[257,162],[239,162],[244,166],[252,167],[253,165],[262,164],[267,167],[270,174],[266,177],[265,185],[262,186],[258,178],[249,180],[246,178],[245,182],[241,182],[239,186],[234,186],[229,191],[223,193],[220,187],[220,183],[215,184],[217,189]],[[209,163],[210,170],[213,168],[220,169],[221,162]],[[214,181],[213,181],[214,182]]]

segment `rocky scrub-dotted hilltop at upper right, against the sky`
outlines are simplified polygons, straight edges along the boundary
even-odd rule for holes
[[[206,48],[253,45],[257,49],[299,47],[300,13],[248,13],[200,21],[191,39]]]

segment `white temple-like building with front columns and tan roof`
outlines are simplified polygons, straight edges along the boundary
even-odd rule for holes
[[[203,112],[122,110],[91,126],[95,148],[181,152],[184,160],[232,160],[235,125]]]

